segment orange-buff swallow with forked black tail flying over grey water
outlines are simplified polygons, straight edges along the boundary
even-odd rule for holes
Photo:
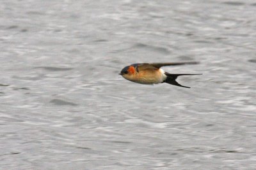
[[[184,64],[198,64],[198,62],[137,63],[124,67],[119,74],[122,75],[126,80],[140,84],[151,85],[158,83],[169,83],[179,87],[190,88],[180,85],[176,81],[177,77],[199,74],[170,74],[161,69],[163,66],[177,66]]]

